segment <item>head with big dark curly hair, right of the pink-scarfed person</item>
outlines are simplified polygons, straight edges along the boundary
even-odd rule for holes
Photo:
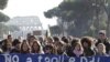
[[[80,42],[84,48],[91,48],[94,41],[90,37],[84,37]]]

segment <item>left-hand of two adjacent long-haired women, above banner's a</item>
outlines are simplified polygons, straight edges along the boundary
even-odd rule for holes
[[[21,51],[21,53],[31,53],[31,48],[26,40],[23,40],[20,51]]]

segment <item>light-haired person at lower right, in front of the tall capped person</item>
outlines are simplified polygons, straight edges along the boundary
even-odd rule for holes
[[[108,56],[108,54],[106,53],[106,45],[103,43],[99,43],[97,45],[97,56]]]

